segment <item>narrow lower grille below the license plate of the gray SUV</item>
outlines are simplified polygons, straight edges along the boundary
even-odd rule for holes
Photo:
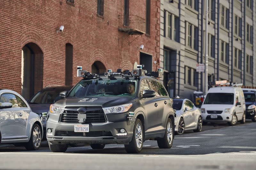
[[[55,136],[70,137],[112,137],[110,131],[94,131],[94,132],[72,132],[72,131],[56,131]]]

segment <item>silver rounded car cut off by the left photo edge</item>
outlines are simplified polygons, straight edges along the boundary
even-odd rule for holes
[[[0,89],[0,143],[37,150],[43,137],[42,129],[41,119],[20,94]]]

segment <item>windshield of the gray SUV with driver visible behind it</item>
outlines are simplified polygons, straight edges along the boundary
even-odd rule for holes
[[[137,80],[82,80],[72,89],[68,97],[135,96],[136,85]]]

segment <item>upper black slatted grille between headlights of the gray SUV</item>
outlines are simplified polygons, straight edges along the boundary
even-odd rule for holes
[[[66,107],[64,113],[61,115],[60,122],[78,123],[77,109],[79,107]],[[102,123],[106,122],[106,117],[102,107],[85,107],[86,121],[84,123]]]

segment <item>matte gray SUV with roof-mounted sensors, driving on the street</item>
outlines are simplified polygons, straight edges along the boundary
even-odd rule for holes
[[[128,153],[139,153],[149,139],[159,148],[172,147],[172,99],[150,76],[159,72],[80,73],[84,78],[50,106],[46,137],[52,152],[65,152],[68,145],[103,149],[114,143],[124,144]]]

